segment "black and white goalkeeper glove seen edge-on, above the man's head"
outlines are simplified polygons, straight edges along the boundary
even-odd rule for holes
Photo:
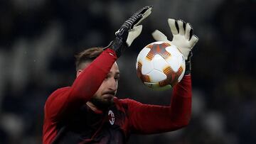
[[[144,18],[151,13],[152,6],[145,6],[134,13],[115,33],[116,38],[106,48],[114,50],[117,57],[127,49],[135,38],[142,32],[142,25],[137,26]]]

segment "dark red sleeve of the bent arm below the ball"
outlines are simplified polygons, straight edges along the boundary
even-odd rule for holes
[[[150,134],[175,131],[188,125],[191,118],[191,76],[176,84],[170,106],[142,104],[124,100],[128,107],[131,133]]]

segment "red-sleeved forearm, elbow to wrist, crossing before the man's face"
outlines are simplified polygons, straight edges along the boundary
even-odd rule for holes
[[[70,89],[70,96],[79,101],[88,101],[97,89],[99,89],[103,80],[117,57],[113,50],[107,49],[97,57],[82,73],[75,79]]]

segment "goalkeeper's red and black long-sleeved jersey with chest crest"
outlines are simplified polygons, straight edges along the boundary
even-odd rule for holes
[[[170,106],[114,97],[114,105],[106,111],[92,111],[86,102],[97,92],[116,60],[113,50],[105,50],[71,87],[57,89],[48,97],[43,143],[121,144],[127,143],[131,133],[163,133],[188,124],[191,118],[190,75],[185,75],[174,86]]]

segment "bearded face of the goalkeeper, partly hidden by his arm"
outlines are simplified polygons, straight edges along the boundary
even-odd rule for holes
[[[117,93],[119,80],[119,68],[117,63],[114,62],[110,72],[105,77],[104,81],[100,85],[100,88],[92,96],[92,104],[97,107],[107,107],[113,104],[113,98]]]

